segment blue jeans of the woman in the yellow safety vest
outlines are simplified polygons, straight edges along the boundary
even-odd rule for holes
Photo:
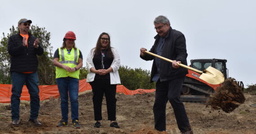
[[[68,96],[71,103],[71,119],[78,120],[78,89],[79,80],[72,77],[56,79],[61,96],[62,120],[68,121]]]

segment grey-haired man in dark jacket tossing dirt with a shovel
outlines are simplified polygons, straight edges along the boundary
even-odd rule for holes
[[[155,42],[150,52],[173,60],[172,63],[169,63],[147,54],[145,48],[140,50],[141,59],[153,60],[151,82],[156,82],[153,106],[154,128],[159,131],[166,130],[165,109],[169,100],[181,133],[193,134],[185,107],[180,100],[182,84],[188,71],[177,64],[187,65],[186,58],[188,54],[185,36],[181,32],[172,29],[170,21],[164,16],[155,18],[154,28],[158,34],[154,37]]]

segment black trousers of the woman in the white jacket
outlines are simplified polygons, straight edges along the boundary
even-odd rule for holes
[[[93,88],[94,120],[102,120],[102,98],[105,94],[108,120],[116,120],[116,84],[110,84],[110,79],[90,82]]]

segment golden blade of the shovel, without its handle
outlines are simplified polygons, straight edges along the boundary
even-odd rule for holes
[[[221,73],[221,71],[211,66],[205,69],[199,78],[209,84],[221,84],[225,80],[224,75]]]

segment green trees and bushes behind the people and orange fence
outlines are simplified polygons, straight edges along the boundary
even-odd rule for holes
[[[11,84],[10,76],[10,55],[7,51],[8,39],[13,34],[18,34],[18,27],[12,26],[9,29],[10,33],[5,35],[0,42],[0,84]],[[53,85],[56,84],[55,80],[55,66],[53,65],[53,46],[51,46],[50,32],[45,28],[40,28],[37,25],[31,25],[30,33],[39,38],[41,46],[44,48],[44,54],[38,56],[38,77],[40,85]],[[88,70],[86,67],[80,69],[79,79],[86,79]],[[150,71],[141,68],[132,69],[127,66],[121,65],[119,67],[119,75],[121,84],[130,90],[138,88],[152,89],[155,87],[154,83],[150,83]]]

